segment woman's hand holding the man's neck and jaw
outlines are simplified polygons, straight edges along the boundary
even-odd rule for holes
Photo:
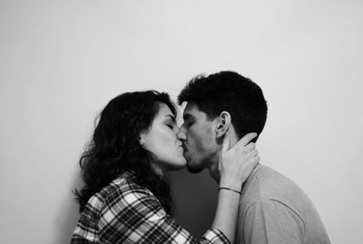
[[[230,149],[230,133],[223,138],[218,170],[220,171],[220,187],[241,190],[250,173],[260,161],[255,143],[250,142],[257,133],[248,133]]]

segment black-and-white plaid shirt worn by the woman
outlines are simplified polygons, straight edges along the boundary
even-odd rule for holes
[[[218,229],[201,239],[167,215],[150,190],[124,172],[88,201],[74,229],[71,244],[90,243],[230,243]]]

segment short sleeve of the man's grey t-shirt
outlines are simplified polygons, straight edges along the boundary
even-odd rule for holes
[[[244,214],[240,243],[302,244],[304,223],[299,215],[277,200],[252,203]]]

